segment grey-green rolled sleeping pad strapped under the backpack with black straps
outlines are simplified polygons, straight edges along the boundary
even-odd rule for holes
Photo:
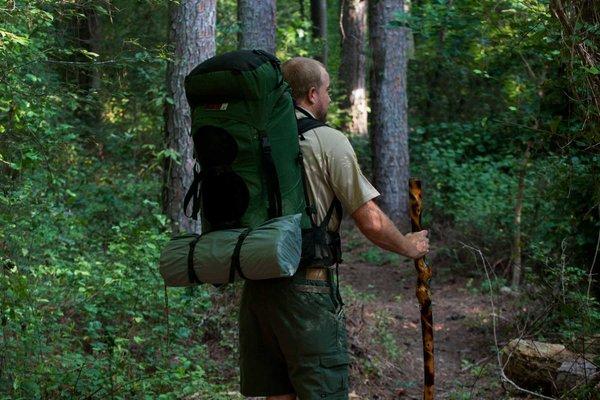
[[[301,214],[285,215],[249,230],[239,249],[239,267],[245,278],[282,278],[296,273],[302,250],[300,218]],[[246,230],[224,229],[173,237],[159,259],[165,285],[196,285],[188,269],[189,261],[200,283],[223,284],[230,282],[230,277],[239,280],[241,276],[232,261],[240,235]],[[190,246],[193,242],[195,245]],[[193,257],[190,257],[190,249],[193,249]]]

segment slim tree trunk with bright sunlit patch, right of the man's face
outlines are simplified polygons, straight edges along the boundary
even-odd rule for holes
[[[342,60],[340,80],[344,85],[350,122],[346,129],[367,134],[366,55],[367,0],[342,0]]]

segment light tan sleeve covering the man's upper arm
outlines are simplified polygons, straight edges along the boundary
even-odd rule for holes
[[[347,213],[379,196],[360,170],[356,153],[343,133],[329,129],[323,145],[329,184]]]

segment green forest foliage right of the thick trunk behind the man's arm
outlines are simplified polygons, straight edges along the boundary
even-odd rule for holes
[[[583,7],[563,4],[573,15]],[[522,175],[523,292],[531,303],[543,299],[546,317],[530,334],[563,341],[599,329],[597,279],[589,273],[600,230],[600,119],[591,100],[595,72],[573,50],[582,42],[597,53],[593,15],[570,34],[545,1],[425,1],[395,23],[414,35],[411,175],[424,181],[425,226],[450,238],[440,254],[454,254],[462,241],[508,259]],[[369,162],[368,143],[358,144],[359,159]],[[497,292],[507,283],[472,290]]]

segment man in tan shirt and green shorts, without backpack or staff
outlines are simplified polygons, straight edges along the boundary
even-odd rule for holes
[[[318,61],[283,64],[296,117],[325,121],[329,75]],[[317,223],[337,198],[360,231],[377,246],[419,258],[429,251],[427,231],[402,235],[374,203],[379,192],[360,171],[348,139],[321,126],[300,141],[307,191]],[[333,214],[329,230],[339,230]],[[291,279],[246,281],[240,307],[241,392],[267,400],[348,398],[348,354],[341,298],[331,274],[302,268]],[[335,292],[335,293],[334,293]]]

